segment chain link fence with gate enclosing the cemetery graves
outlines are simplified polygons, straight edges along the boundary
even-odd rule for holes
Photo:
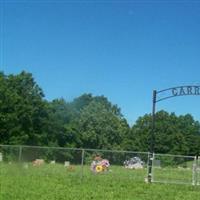
[[[149,153],[0,145],[2,173],[147,182]],[[154,154],[152,182],[200,185],[200,158]]]

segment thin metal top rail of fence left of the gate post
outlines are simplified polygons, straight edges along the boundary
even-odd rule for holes
[[[28,146],[28,145],[2,145],[0,147],[15,147],[15,148],[35,148],[35,149],[57,149],[57,150],[75,150],[75,151],[98,151],[98,152],[115,152],[115,153],[135,153],[135,154],[149,154],[148,152],[139,151],[123,151],[123,150],[106,150],[106,149],[87,149],[87,148],[71,148],[71,147],[48,147],[48,146]]]

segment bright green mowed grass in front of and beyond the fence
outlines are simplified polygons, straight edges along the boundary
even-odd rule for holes
[[[182,172],[180,172],[182,173]],[[93,174],[89,166],[40,167],[0,164],[1,200],[198,200],[200,186],[147,184],[145,170],[111,167]],[[173,176],[176,176],[173,174]],[[177,176],[180,174],[177,173]],[[188,174],[190,176],[190,174]]]

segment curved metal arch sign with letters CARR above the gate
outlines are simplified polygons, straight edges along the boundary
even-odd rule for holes
[[[190,86],[178,86],[172,87],[165,90],[155,91],[155,102],[159,102],[168,98],[177,97],[177,96],[186,96],[186,95],[200,95],[200,85],[190,85]],[[164,94],[157,98],[157,95]]]

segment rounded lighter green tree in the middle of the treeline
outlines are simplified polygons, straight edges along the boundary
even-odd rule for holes
[[[118,110],[105,97],[94,97],[74,121],[81,142],[79,147],[122,149],[129,127]]]

